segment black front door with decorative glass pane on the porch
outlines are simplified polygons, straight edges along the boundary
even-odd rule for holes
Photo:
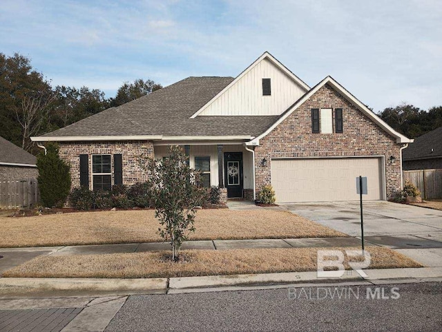
[[[224,153],[224,183],[227,197],[242,197],[242,152]]]

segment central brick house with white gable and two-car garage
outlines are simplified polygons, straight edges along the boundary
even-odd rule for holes
[[[73,187],[144,181],[137,156],[180,145],[224,196],[254,200],[272,185],[279,203],[358,200],[359,175],[366,199],[385,200],[412,142],[332,77],[309,87],[269,52],[236,78],[189,77],[32,141],[59,143]]]

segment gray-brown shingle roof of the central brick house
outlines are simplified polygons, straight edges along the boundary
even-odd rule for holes
[[[278,116],[198,116],[233,77],[189,77],[43,136],[258,136]]]

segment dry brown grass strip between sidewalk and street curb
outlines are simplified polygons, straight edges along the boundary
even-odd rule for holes
[[[28,278],[166,278],[249,273],[316,271],[318,249],[183,250],[180,262],[165,259],[168,251],[104,255],[44,256],[3,273]],[[355,249],[359,248],[327,248]],[[368,247],[370,269],[422,267],[383,247]],[[346,260],[347,261],[347,260]],[[347,269],[348,269],[347,265]]]

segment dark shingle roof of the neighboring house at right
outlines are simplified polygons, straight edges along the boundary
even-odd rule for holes
[[[423,134],[402,152],[403,160],[442,158],[442,126]]]

